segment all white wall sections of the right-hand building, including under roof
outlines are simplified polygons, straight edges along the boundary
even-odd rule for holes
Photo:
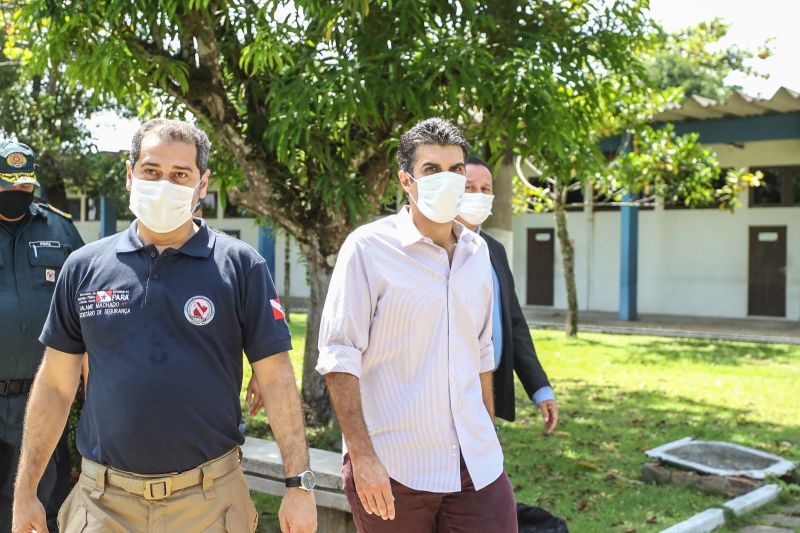
[[[722,166],[800,164],[800,140],[712,146]],[[717,209],[639,212],[638,308],[641,313],[712,317],[747,316],[750,226],[787,227],[786,318],[800,320],[800,207],[749,208],[747,196],[734,214]],[[593,220],[592,220],[593,218]],[[525,302],[528,228],[554,228],[551,214],[514,219],[512,268]],[[568,214],[575,243],[575,281],[582,310],[619,309],[620,214]],[[562,258],[555,243],[554,307],[566,307]]]

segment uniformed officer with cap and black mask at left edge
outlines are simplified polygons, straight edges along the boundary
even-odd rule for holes
[[[11,530],[25,403],[42,359],[37,337],[64,260],[83,246],[69,215],[34,201],[34,163],[30,147],[0,141],[0,533]],[[43,501],[55,481],[51,461]]]

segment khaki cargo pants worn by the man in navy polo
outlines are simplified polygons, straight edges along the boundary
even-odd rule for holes
[[[87,466],[97,469],[97,479],[86,474]],[[256,529],[258,512],[238,465],[221,477],[206,478],[160,499],[114,486],[115,474],[130,476],[84,460],[84,471],[58,513],[61,533],[253,533]],[[156,497],[163,495],[161,484]]]

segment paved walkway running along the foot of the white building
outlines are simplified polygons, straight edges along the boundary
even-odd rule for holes
[[[532,328],[564,327],[564,311],[550,307],[524,307],[523,311]],[[584,311],[579,315],[578,330],[800,345],[800,322],[781,319],[640,315],[639,320],[626,322],[616,313]]]

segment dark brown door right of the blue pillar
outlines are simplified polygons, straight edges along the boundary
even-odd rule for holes
[[[786,226],[751,226],[747,314],[786,316]]]

